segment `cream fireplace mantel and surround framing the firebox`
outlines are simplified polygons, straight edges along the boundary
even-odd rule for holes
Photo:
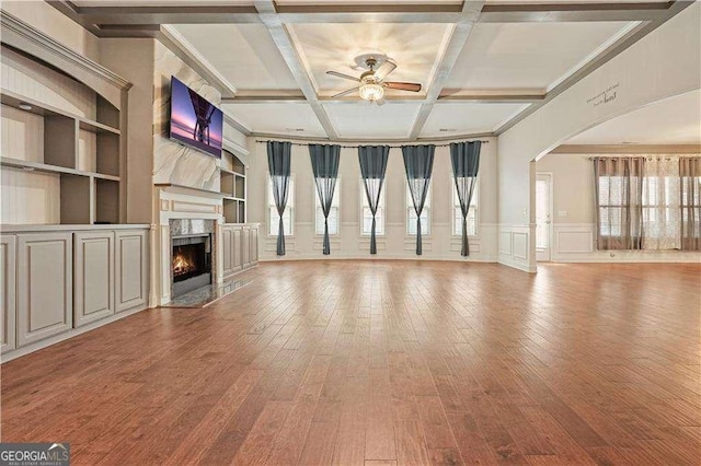
[[[157,185],[154,189],[159,224],[153,229],[151,248],[151,305],[170,303],[172,296],[172,237],[211,235],[211,281],[221,284],[221,195],[175,185]]]

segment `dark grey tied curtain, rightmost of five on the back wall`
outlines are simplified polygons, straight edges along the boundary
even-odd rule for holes
[[[470,202],[474,194],[474,185],[478,183],[478,172],[480,171],[480,151],[482,141],[453,142],[450,144],[450,162],[452,164],[452,177],[458,190],[460,200],[460,212],[462,213],[462,248],[460,255],[470,255],[468,244],[468,212]]]

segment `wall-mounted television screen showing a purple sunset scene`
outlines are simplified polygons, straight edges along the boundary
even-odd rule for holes
[[[171,139],[221,158],[223,115],[177,78],[171,79]]]

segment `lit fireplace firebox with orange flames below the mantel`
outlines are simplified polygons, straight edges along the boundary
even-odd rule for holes
[[[172,296],[211,283],[211,235],[173,236],[171,240]]]

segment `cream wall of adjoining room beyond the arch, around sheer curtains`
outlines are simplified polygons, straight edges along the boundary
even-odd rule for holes
[[[692,252],[596,251],[594,167],[589,156],[589,154],[550,153],[536,163],[538,172],[552,174],[552,261],[698,263],[701,260],[701,254]]]

